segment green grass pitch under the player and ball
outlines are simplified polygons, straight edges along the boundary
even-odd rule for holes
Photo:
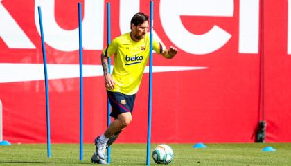
[[[174,151],[169,165],[291,165],[291,143],[206,144],[204,149],[195,149],[193,144],[168,145]],[[276,151],[262,151],[267,146]],[[52,144],[51,158],[46,157],[46,144],[0,146],[0,165],[94,165],[94,150],[93,144],[85,144],[84,160],[80,161],[78,144]],[[145,165],[145,158],[146,144],[114,144],[110,165]],[[152,154],[150,165],[156,165]]]

